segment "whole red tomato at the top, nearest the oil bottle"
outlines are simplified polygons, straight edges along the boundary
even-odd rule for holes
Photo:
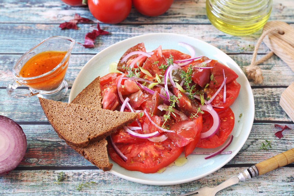
[[[159,16],[166,12],[173,0],[133,0],[133,5],[143,15]]]

